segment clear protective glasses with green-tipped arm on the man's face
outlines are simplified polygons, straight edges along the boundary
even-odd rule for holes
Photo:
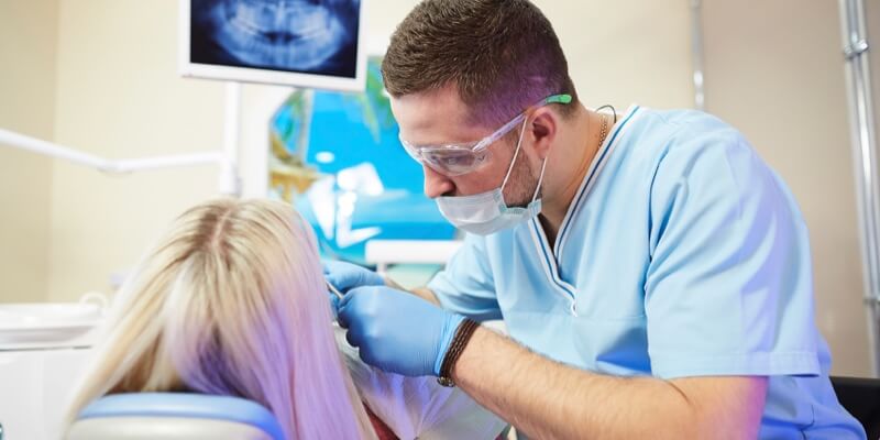
[[[448,177],[461,176],[480,168],[483,164],[488,162],[492,157],[488,146],[516,128],[522,119],[534,110],[549,103],[570,102],[571,95],[563,94],[547,97],[517,114],[516,118],[502,125],[501,129],[495,130],[494,133],[473,143],[417,146],[405,141],[403,138],[400,138],[400,143],[404,144],[404,150],[406,150],[409,156],[416,162],[428,165],[435,172]]]

